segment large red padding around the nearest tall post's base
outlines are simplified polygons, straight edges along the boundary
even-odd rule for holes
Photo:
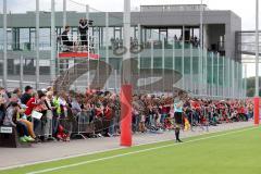
[[[121,146],[130,147],[132,140],[132,85],[121,89]]]

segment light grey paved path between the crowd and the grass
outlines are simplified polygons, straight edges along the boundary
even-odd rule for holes
[[[209,133],[243,128],[251,125],[253,125],[252,122],[222,124],[215,127],[209,127]],[[207,132],[197,127],[194,132],[183,132],[182,138],[197,136],[204,133]],[[170,139],[174,139],[173,132],[165,132],[164,134],[136,134],[133,138],[135,145],[151,144]],[[72,140],[71,142],[37,144],[33,145],[32,148],[0,148],[0,170],[49,160],[64,159],[72,156],[112,150],[120,148],[119,141],[119,137],[113,137]]]

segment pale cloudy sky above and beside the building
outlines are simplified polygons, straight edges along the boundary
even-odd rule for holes
[[[41,11],[50,11],[51,0],[39,0]],[[55,0],[57,10],[62,10],[62,1]],[[91,11],[123,11],[124,0],[67,0],[69,11],[85,11],[89,4]],[[200,0],[132,0],[132,10],[141,4],[196,4]],[[243,29],[254,29],[256,0],[203,0],[211,10],[232,10],[243,20]],[[260,2],[261,3],[261,2]],[[25,12],[35,10],[35,0],[8,0],[8,11]],[[0,0],[0,7],[2,0]],[[261,11],[261,10],[260,10]],[[2,8],[0,8],[2,12]],[[260,17],[261,24],[261,17]],[[248,64],[248,76],[254,75],[253,64]]]

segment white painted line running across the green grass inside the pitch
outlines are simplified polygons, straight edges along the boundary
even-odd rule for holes
[[[241,133],[241,132],[247,132],[247,130],[251,130],[251,129],[256,129],[256,128],[258,128],[258,127],[251,127],[251,128],[246,128],[246,129],[224,133],[224,134],[220,134],[220,135],[213,135],[213,136],[209,136],[209,137],[204,137],[204,138],[192,139],[192,140],[185,141],[183,144],[164,145],[164,146],[159,146],[159,147],[154,147],[154,148],[137,150],[137,151],[126,152],[126,153],[122,153],[122,154],[115,154],[115,156],[100,158],[100,159],[95,159],[95,160],[83,161],[83,162],[78,162],[78,163],[74,163],[74,164],[67,164],[67,165],[50,167],[50,169],[40,170],[40,171],[34,171],[34,172],[29,172],[29,173],[26,173],[26,174],[40,174],[40,173],[53,172],[53,171],[59,171],[59,170],[62,170],[62,169],[69,169],[69,167],[74,167],[74,166],[78,166],[78,165],[84,165],[84,164],[105,161],[105,160],[115,159],[115,158],[120,158],[120,157],[125,157],[125,156],[129,156],[129,154],[136,154],[136,153],[147,152],[147,151],[151,151],[151,150],[158,150],[158,149],[163,149],[163,148],[167,148],[167,147],[174,147],[174,146],[178,146],[178,145],[190,144],[190,142],[196,142],[196,141],[200,141],[200,140],[222,137],[222,136],[236,134],[236,133]]]

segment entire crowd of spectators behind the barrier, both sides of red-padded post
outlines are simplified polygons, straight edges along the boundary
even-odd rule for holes
[[[176,102],[183,109],[185,129],[248,121],[253,116],[253,105],[246,100],[134,95],[133,133],[174,129]],[[7,91],[0,87],[0,125],[16,127],[23,142],[45,141],[50,137],[69,141],[70,137],[79,134],[89,137],[117,136],[121,133],[120,112],[120,98],[110,91],[57,92],[52,87],[35,91],[26,86],[22,92],[20,88]]]

